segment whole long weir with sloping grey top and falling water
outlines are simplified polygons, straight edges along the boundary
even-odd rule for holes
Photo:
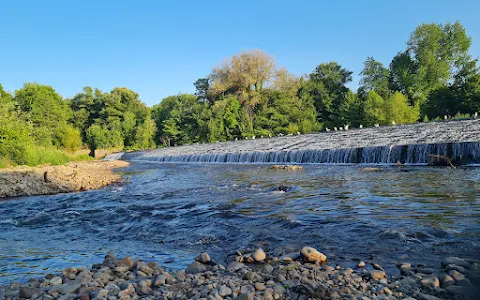
[[[480,164],[480,121],[257,137],[136,151],[125,153],[122,159],[177,163],[427,164],[433,155],[462,165]]]

